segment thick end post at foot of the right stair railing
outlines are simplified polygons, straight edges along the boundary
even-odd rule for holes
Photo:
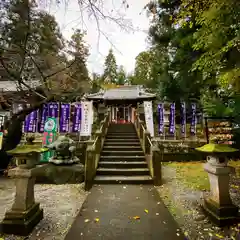
[[[160,149],[157,146],[152,148],[153,181],[155,186],[162,185],[162,159]]]

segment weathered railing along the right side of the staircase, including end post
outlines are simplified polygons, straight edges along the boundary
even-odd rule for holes
[[[161,173],[161,154],[160,149],[151,139],[150,132],[146,129],[145,123],[140,120],[138,114],[136,116],[135,127],[145,153],[148,168],[151,177],[154,180],[155,186],[160,186],[162,184],[162,173]]]

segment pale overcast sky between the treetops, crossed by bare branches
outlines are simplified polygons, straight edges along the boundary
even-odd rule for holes
[[[124,31],[113,21],[100,20],[100,38],[97,21],[89,17],[87,11],[80,11],[77,0],[70,0],[68,6],[47,5],[48,11],[53,14],[60,25],[65,38],[69,39],[73,29],[80,28],[87,31],[85,37],[89,45],[90,56],[88,69],[90,72],[102,73],[104,59],[110,48],[113,49],[117,64],[123,65],[126,72],[134,70],[136,56],[147,49],[147,31],[149,19],[143,11],[148,0],[128,0],[129,8],[122,6],[122,0],[103,0],[103,13],[113,18],[124,18]],[[102,9],[102,8],[101,8]],[[123,23],[118,20],[118,23]],[[127,22],[127,24],[125,24]]]

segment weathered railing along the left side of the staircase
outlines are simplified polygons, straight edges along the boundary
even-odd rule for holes
[[[104,144],[110,120],[110,112],[105,114],[104,120],[101,121],[99,130],[95,132],[95,138],[87,141],[85,155],[85,190],[92,187],[93,179],[96,175],[100,153]]]

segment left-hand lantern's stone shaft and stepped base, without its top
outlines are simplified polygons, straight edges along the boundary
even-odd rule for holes
[[[38,168],[14,168],[9,176],[15,178],[16,195],[11,210],[7,211],[1,222],[0,231],[5,234],[27,236],[43,219],[43,210],[34,199],[35,175]]]

